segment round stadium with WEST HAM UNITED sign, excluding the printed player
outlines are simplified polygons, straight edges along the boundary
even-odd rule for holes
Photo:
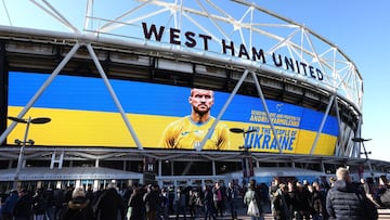
[[[24,23],[15,24],[12,4],[3,5],[2,190],[14,182],[123,186],[147,174],[160,185],[198,185],[242,181],[246,167],[264,181],[326,177],[339,166],[364,168],[366,177],[389,171],[389,163],[361,155],[363,79],[355,64],[318,34],[260,5],[110,1],[107,11],[87,0],[69,12],[31,0],[18,7],[42,17],[20,14]],[[197,150],[157,144],[169,121],[188,114],[194,87],[212,89],[219,103],[206,137],[218,122],[242,129],[231,133],[229,148],[203,150],[206,139]],[[40,117],[51,121],[34,125]]]

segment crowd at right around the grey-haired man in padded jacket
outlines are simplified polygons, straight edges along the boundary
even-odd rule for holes
[[[376,220],[378,208],[390,208],[386,198],[390,185],[385,176],[379,184],[364,179],[352,181],[347,168],[339,168],[329,183],[287,181],[275,178],[271,186],[272,216],[275,220]]]

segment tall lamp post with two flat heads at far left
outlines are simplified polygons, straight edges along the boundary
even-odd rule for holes
[[[16,189],[16,184],[18,181],[18,177],[21,173],[21,169],[22,169],[22,164],[23,164],[23,156],[24,156],[24,151],[26,147],[26,143],[34,143],[34,141],[27,141],[27,137],[28,137],[28,129],[29,129],[29,125],[30,124],[47,124],[51,120],[51,118],[47,118],[47,117],[39,117],[39,118],[31,118],[28,117],[28,119],[24,119],[24,118],[17,118],[17,117],[8,117],[8,119],[16,121],[16,122],[21,122],[21,124],[26,124],[26,131],[25,131],[25,135],[23,141],[15,141],[21,145],[21,151],[20,151],[20,155],[17,158],[17,166],[16,166],[16,172],[15,172],[15,177],[14,177],[14,182],[13,182],[13,189]]]

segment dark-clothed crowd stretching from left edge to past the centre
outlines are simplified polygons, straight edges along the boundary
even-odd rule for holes
[[[240,190],[230,182],[205,187],[159,187],[134,184],[118,189],[109,183],[93,192],[91,187],[13,190],[1,204],[0,220],[168,220],[237,218]],[[226,215],[226,210],[230,215]]]

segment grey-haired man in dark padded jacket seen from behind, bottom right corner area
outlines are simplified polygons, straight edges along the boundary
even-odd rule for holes
[[[337,220],[373,220],[378,212],[365,194],[351,182],[348,169],[341,167],[336,171],[337,181],[326,197],[326,210]]]

